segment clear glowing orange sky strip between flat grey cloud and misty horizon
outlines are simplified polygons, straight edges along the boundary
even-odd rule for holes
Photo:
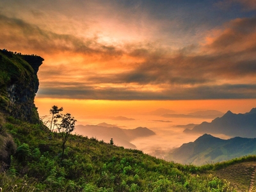
[[[53,105],[63,107],[78,120],[93,116],[127,116],[154,111],[159,108],[171,109],[178,114],[187,114],[208,109],[226,113],[246,113],[256,106],[256,99],[225,100],[77,100],[36,98],[36,107],[41,115],[49,115]]]

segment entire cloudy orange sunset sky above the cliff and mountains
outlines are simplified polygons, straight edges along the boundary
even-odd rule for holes
[[[40,113],[256,106],[255,0],[1,0],[0,29],[45,60]]]

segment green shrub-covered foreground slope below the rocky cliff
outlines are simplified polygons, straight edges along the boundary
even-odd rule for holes
[[[10,169],[0,174],[3,191],[232,191],[228,182],[205,169],[140,150],[71,135],[61,161],[60,134],[12,117],[3,130],[17,144]]]

